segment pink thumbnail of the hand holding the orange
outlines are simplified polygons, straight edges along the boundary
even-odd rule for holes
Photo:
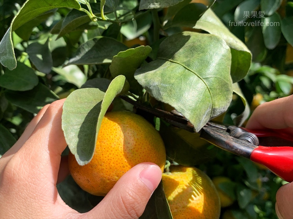
[[[151,190],[158,187],[162,178],[162,171],[157,165],[150,165],[140,172],[140,179]]]

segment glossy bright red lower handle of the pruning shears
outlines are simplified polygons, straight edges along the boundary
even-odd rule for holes
[[[293,147],[264,147],[253,150],[250,159],[263,164],[283,180],[293,181]]]

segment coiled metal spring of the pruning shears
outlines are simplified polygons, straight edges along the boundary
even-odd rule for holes
[[[258,137],[253,133],[244,131],[242,128],[239,128],[237,126],[229,126],[228,130],[229,135],[233,138],[249,142],[253,145],[259,145]]]

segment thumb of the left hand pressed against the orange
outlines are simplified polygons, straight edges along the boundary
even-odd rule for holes
[[[127,171],[86,218],[139,218],[159,185],[162,171],[153,163],[137,164]]]

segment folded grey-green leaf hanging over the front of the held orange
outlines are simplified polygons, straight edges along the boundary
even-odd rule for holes
[[[62,130],[79,165],[91,161],[102,119],[114,98],[125,88],[126,79],[113,79],[106,93],[98,88],[73,91],[64,102]]]

